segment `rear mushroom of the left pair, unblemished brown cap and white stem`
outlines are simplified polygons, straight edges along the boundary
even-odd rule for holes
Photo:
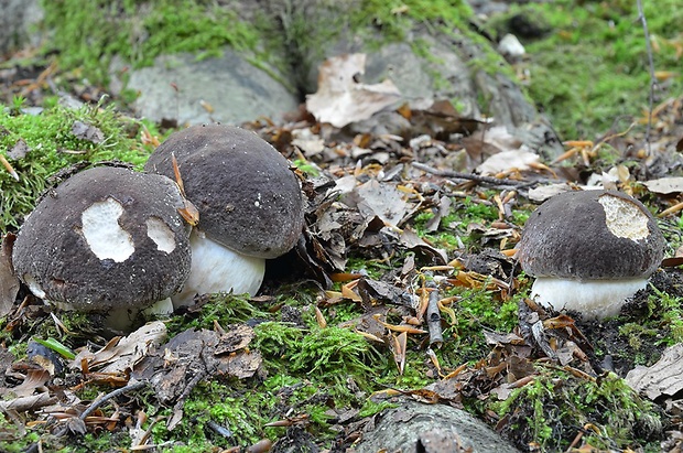
[[[301,188],[286,159],[251,131],[205,125],[171,134],[145,170],[173,177],[174,160],[199,212],[192,270],[174,306],[192,304],[195,294],[256,294],[265,259],[289,251],[303,229]]]

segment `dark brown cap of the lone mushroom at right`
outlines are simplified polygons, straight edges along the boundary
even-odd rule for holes
[[[518,250],[534,277],[648,278],[662,261],[664,237],[650,212],[624,193],[565,192],[529,216]]]

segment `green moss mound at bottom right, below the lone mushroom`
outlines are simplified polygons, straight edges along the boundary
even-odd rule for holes
[[[588,430],[584,441],[598,449],[633,447],[635,441],[644,444],[661,433],[655,406],[616,375],[594,381],[554,367],[539,371],[533,382],[490,405],[509,417],[503,432],[518,444],[535,442],[542,451],[564,451],[586,425],[595,431]]]

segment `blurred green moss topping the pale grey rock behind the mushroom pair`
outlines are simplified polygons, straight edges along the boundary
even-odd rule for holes
[[[161,54],[215,56],[225,46],[265,58],[259,30],[273,26],[247,24],[232,9],[200,0],[43,1],[43,8],[55,31],[46,51],[57,50],[63,67],[80,67],[95,83],[108,80],[115,55],[135,67]]]

